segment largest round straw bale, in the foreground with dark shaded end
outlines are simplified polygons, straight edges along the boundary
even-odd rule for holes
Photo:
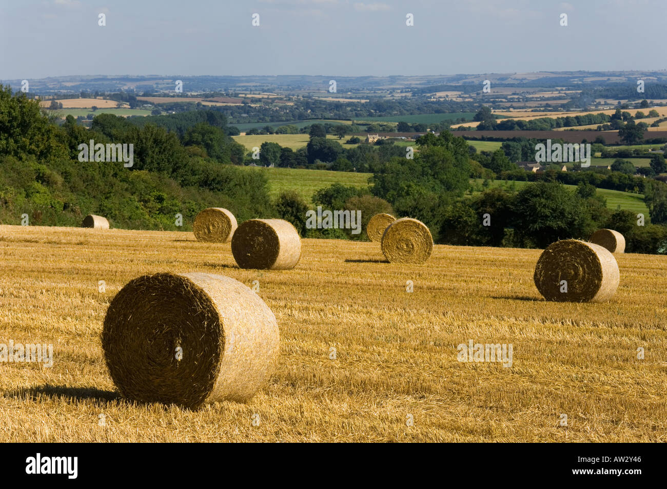
[[[279,332],[273,312],[241,282],[155,274],[113,298],[102,348],[123,397],[197,408],[251,398],[275,366]]]

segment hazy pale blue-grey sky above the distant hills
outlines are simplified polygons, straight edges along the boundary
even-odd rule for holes
[[[0,79],[657,70],[666,14],[666,0],[0,0]]]

